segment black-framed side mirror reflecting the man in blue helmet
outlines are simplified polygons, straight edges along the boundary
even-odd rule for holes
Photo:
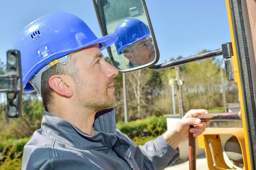
[[[118,40],[107,50],[113,65],[128,72],[155,65],[160,57],[145,0],[93,0],[102,35]]]

